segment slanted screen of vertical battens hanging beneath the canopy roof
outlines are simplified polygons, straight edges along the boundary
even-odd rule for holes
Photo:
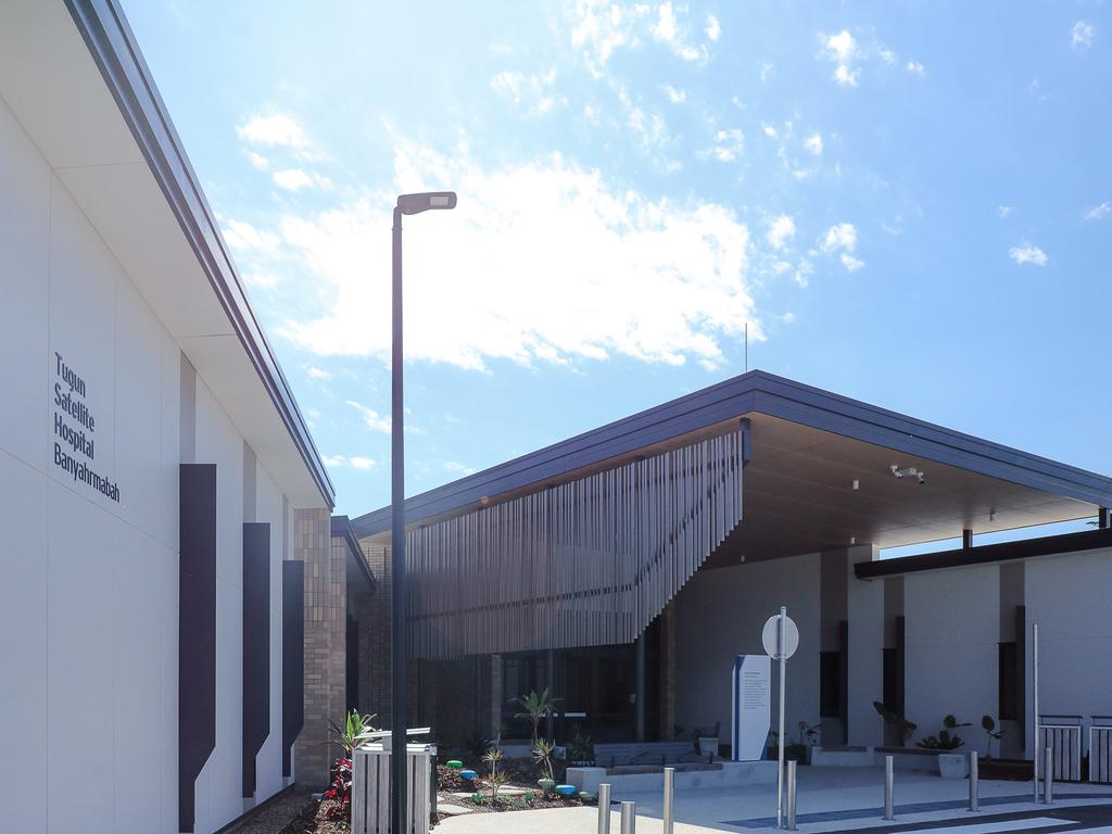
[[[414,657],[632,643],[742,519],[744,430],[410,530]]]

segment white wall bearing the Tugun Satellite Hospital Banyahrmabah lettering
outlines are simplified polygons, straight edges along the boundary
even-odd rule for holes
[[[0,827],[176,832],[180,350],[2,99],[0,182],[0,667],[14,682],[0,687]],[[54,463],[54,351],[86,381],[90,463],[118,481],[118,503]],[[219,473],[218,728],[197,786],[203,834],[244,811],[244,441],[200,381],[196,426],[196,461]],[[281,786],[284,498],[265,470],[258,480],[275,562],[265,798]]]

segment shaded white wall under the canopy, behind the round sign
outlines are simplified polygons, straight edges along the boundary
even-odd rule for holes
[[[676,723],[692,729],[722,723],[729,738],[729,674],[739,654],[764,654],[765,620],[786,605],[800,627],[800,651],[787,663],[790,738],[801,721],[818,723],[818,554],[701,570],[676,596]],[[778,703],[773,668],[773,705]],[[776,726],[773,707],[772,726]]]

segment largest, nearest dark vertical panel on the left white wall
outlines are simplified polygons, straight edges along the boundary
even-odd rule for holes
[[[178,831],[191,832],[216,749],[216,464],[182,464],[179,481]]]

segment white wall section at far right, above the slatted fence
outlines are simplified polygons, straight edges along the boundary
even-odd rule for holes
[[[1039,624],[1039,697],[1044,715],[1112,715],[1112,550],[1032,559],[1025,564],[1027,669],[1031,624]],[[1034,702],[1026,675],[1026,727]],[[1026,731],[1030,755],[1031,731]],[[1088,737],[1084,739],[1088,744]]]

